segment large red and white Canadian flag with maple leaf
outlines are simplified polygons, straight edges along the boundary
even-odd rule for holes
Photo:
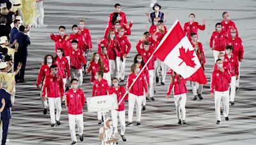
[[[185,79],[200,84],[207,83],[204,70],[179,20],[176,20],[165,34],[154,52],[154,57],[157,57]]]

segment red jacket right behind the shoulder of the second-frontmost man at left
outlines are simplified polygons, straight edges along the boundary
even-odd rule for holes
[[[54,64],[58,66],[60,74],[62,78],[69,78],[70,77],[70,69],[68,64],[68,59],[66,57],[56,57]]]

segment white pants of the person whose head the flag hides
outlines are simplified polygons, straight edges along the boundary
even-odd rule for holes
[[[176,114],[178,120],[185,120],[186,119],[186,101],[187,101],[187,94],[182,93],[180,95],[174,95],[174,102],[176,107]]]

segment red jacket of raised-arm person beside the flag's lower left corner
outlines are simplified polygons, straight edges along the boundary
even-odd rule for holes
[[[140,53],[140,55],[142,55],[144,62],[146,63],[148,61],[148,59],[151,57],[152,53],[154,52],[154,48],[152,48],[152,45],[149,46],[148,51],[146,52],[146,50],[144,50],[143,48],[141,49],[141,45],[142,45],[143,41],[139,41],[138,44],[136,45],[136,49],[138,51],[138,53]],[[152,70],[154,69],[154,62],[155,62],[156,58],[152,58],[149,62],[148,62],[148,70]]]

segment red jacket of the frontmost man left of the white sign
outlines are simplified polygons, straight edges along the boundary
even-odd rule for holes
[[[83,114],[85,95],[83,90],[77,88],[76,93],[72,88],[66,92],[66,107],[68,114]]]

